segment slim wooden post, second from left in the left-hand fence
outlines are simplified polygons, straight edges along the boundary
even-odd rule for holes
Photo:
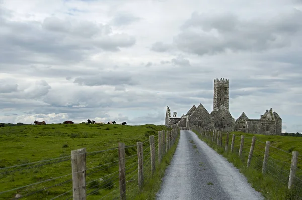
[[[120,199],[126,199],[126,173],[125,173],[125,143],[118,143],[118,173],[120,186]]]

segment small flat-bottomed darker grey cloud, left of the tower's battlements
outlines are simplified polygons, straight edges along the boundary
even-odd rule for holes
[[[87,86],[137,84],[137,82],[135,82],[130,75],[116,72],[102,72],[95,76],[77,77],[75,78],[74,83]]]

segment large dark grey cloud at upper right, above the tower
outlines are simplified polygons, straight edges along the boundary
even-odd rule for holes
[[[242,20],[233,14],[193,13],[181,27],[181,33],[173,38],[173,45],[197,55],[217,54],[228,49],[237,52],[283,48],[291,45],[292,38],[302,41],[301,18],[302,12],[296,9],[280,13],[274,19],[264,17],[261,21]]]

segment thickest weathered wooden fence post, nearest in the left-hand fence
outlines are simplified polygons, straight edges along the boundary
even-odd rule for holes
[[[86,199],[86,148],[71,151],[73,199]]]

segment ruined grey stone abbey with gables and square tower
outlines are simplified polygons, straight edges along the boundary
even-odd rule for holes
[[[218,129],[223,131],[243,131],[247,133],[281,135],[282,119],[273,112],[272,108],[266,110],[260,119],[249,119],[244,112],[235,120],[229,111],[229,80],[214,80],[213,111],[209,113],[202,104],[195,105],[180,118],[167,106],[165,124],[170,127],[201,126],[205,129]]]

